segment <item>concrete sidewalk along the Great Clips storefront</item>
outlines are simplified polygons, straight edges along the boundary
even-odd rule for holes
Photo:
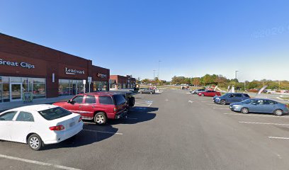
[[[36,105],[36,104],[52,104],[57,101],[68,101],[72,97],[73,96],[60,96],[57,98],[38,98],[33,100],[32,103],[23,103],[23,101],[0,103],[0,112],[6,111],[11,108],[18,108],[21,106]]]

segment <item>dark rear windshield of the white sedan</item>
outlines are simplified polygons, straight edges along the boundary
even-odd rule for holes
[[[42,115],[46,120],[55,120],[72,114],[72,112],[60,107],[50,108],[44,111],[39,111],[38,113],[40,113],[40,115]]]

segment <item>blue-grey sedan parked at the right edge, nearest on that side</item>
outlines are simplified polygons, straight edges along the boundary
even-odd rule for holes
[[[289,112],[288,106],[285,104],[263,98],[250,98],[239,103],[231,103],[229,108],[244,114],[273,113],[274,115],[283,115]]]

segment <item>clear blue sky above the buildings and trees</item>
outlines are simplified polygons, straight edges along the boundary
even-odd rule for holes
[[[0,32],[141,79],[286,79],[289,1],[2,1]],[[157,71],[156,71],[157,75]]]

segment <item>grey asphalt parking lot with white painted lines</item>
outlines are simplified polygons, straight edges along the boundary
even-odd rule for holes
[[[86,122],[39,152],[0,141],[1,169],[288,169],[289,115],[234,113],[187,92],[137,94],[127,118]]]

